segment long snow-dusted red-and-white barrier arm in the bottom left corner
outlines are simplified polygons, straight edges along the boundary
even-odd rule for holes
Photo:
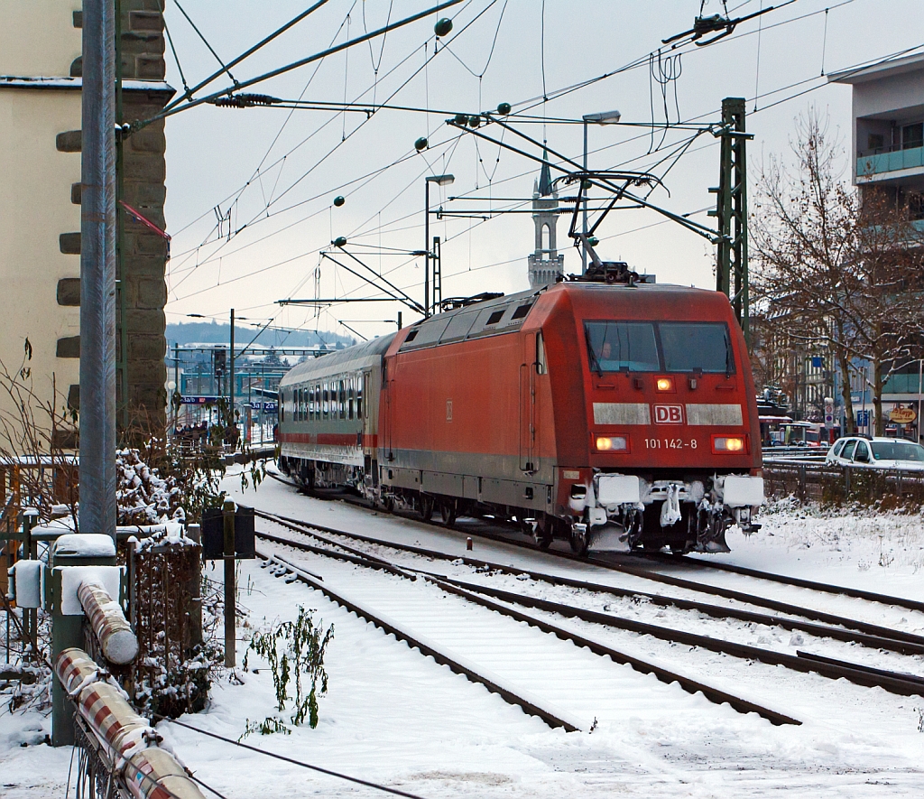
[[[176,758],[158,746],[161,736],[131,709],[122,689],[100,679],[86,652],[65,649],[55,674],[135,799],[205,799]]]

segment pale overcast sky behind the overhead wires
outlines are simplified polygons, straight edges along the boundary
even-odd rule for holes
[[[305,0],[185,0],[183,7],[227,62],[308,5]],[[728,0],[732,17],[769,5],[771,0]],[[239,81],[249,79],[373,31],[389,17],[395,21],[430,6],[424,0],[329,0],[232,73]],[[723,97],[743,96],[748,130],[755,135],[748,144],[753,187],[761,161],[788,150],[794,118],[809,104],[830,115],[832,134],[849,144],[850,89],[826,85],[822,72],[924,45],[920,0],[796,0],[760,21],[742,23],[720,43],[675,51],[664,47],[663,38],[691,27],[699,6],[699,0],[468,0],[440,15],[453,18],[454,30],[435,55],[437,17],[431,16],[247,90],[336,103],[387,100],[433,113],[382,110],[367,118],[355,112],[201,105],[170,117],[168,322],[182,321],[188,313],[226,318],[234,306],[250,320],[273,318],[274,326],[344,333],[338,328],[344,321],[369,338],[394,330],[383,320],[395,319],[401,308],[395,302],[338,305],[317,317],[308,308],[281,309],[274,303],[289,297],[381,296],[322,260],[319,253],[338,236],[346,236],[347,250],[422,301],[422,259],[400,251],[424,246],[426,175],[456,178],[444,190],[433,187],[434,209],[442,204],[483,215],[529,207],[516,201],[529,200],[538,165],[460,135],[445,125],[447,115],[441,112],[473,114],[510,103],[515,114],[550,119],[543,125],[513,117],[514,127],[534,139],[544,135],[550,148],[579,161],[581,126],[552,120],[618,109],[621,124],[590,127],[590,168],[651,169],[662,175],[692,132],[657,131],[652,137],[650,129],[627,123],[650,123],[652,107],[654,120],[663,122],[665,104],[671,122],[708,123],[719,118]],[[721,0],[707,0],[705,14],[722,11]],[[218,64],[175,3],[167,4],[166,19],[186,80],[194,85]],[[645,60],[659,46],[655,78],[675,77],[663,84],[652,78]],[[167,80],[181,91],[183,80],[169,50],[166,57]],[[643,59],[638,68],[555,97],[565,87],[638,59]],[[226,76],[216,80],[214,91],[228,82]],[[799,94],[814,87],[820,88]],[[543,95],[548,102],[542,102]],[[481,130],[491,136],[501,132],[498,126]],[[431,146],[416,154],[414,142],[421,136]],[[511,133],[504,138],[538,154]],[[718,168],[718,143],[701,134],[670,168],[666,190],[654,191],[650,199],[678,214],[700,212],[692,218],[709,224],[704,209],[714,203],[708,189],[717,185]],[[337,195],[346,198],[339,208],[333,205]],[[474,199],[448,202],[450,196],[466,195]],[[219,223],[218,215],[225,220]],[[602,257],[626,260],[659,282],[711,288],[711,244],[662,220],[639,210],[610,215],[598,234]],[[580,262],[566,238],[568,221],[559,221],[559,249],[565,252],[565,271],[573,272]],[[433,217],[434,235],[444,240],[444,297],[528,288],[527,255],[534,246],[529,215],[495,214],[489,221]],[[361,271],[342,253],[336,257]],[[404,309],[405,324],[417,318]]]

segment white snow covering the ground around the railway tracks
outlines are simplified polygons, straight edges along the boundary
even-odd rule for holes
[[[464,520],[459,524],[461,532],[444,531],[339,501],[305,498],[273,480],[264,482],[257,491],[242,492],[232,476],[225,487],[238,502],[264,510],[383,539],[425,547],[454,547],[459,555],[465,551]],[[777,503],[764,512],[761,521],[765,526],[757,535],[729,535],[733,551],[724,559],[766,571],[924,600],[924,530],[918,515],[822,512]],[[522,568],[577,575],[593,582],[627,584],[621,575],[590,564],[555,561],[539,552],[480,538],[475,538],[473,554],[497,562],[517,561]],[[291,550],[286,557],[296,559]],[[299,554],[298,558],[305,556]],[[556,653],[567,655],[604,678],[609,673],[612,680],[603,679],[598,684],[601,695],[608,691],[611,698],[601,702],[601,707],[606,707],[602,707],[601,723],[592,733],[551,730],[540,719],[511,707],[484,687],[453,674],[431,658],[421,657],[418,651],[335,606],[320,592],[303,584],[286,584],[260,569],[257,562],[245,561],[240,573],[240,602],[249,609],[249,626],[238,630],[239,657],[253,629],[267,629],[276,621],[294,619],[298,605],[314,609],[316,618],[325,624],[334,624],[334,641],[326,658],[330,689],[321,700],[318,728],[299,728],[290,736],[255,734],[246,743],[427,799],[544,799],[575,794],[725,799],[778,793],[798,797],[892,797],[924,793],[924,733],[918,731],[917,709],[924,708],[924,698],[889,695],[879,689],[755,664],[740,685],[724,687],[733,693],[740,688],[748,696],[805,721],[798,728],[773,727],[754,714],[743,716],[729,707],[716,707],[701,695],[687,695],[676,685],[663,685],[573,645],[550,644],[554,641],[550,636],[503,620],[483,608],[472,608],[456,597],[446,597],[432,586],[410,584],[330,559],[312,557],[305,562],[310,563],[312,571],[322,573],[325,581],[361,595],[368,604],[377,599],[383,606],[391,603],[389,610],[395,614],[401,610],[395,604],[396,592],[417,592],[414,612],[418,615],[402,612],[406,612],[408,623],[416,618],[415,623],[421,627],[425,622],[430,624],[428,634],[440,632],[437,622],[441,610],[454,619],[467,614],[472,631],[477,631],[479,619],[484,620],[486,631],[511,625],[507,628],[511,629],[511,641],[535,645],[536,651],[551,652],[555,657]],[[671,569],[685,577],[708,575],[716,584],[753,590],[753,584],[741,575],[694,572],[679,566]],[[220,572],[210,572],[210,576],[220,579]],[[471,576],[468,572],[467,579]],[[507,578],[493,584],[510,587]],[[525,587],[521,584],[519,589]],[[650,590],[652,585],[645,587]],[[760,584],[762,593],[769,594],[770,590],[770,584]],[[784,586],[779,590],[788,601],[800,601],[799,592]],[[663,586],[660,592],[672,596],[681,593],[669,586]],[[550,594],[549,598],[565,601],[564,595]],[[819,600],[810,595],[806,601]],[[833,597],[832,601],[842,599]],[[843,601],[845,608],[857,610],[851,614],[838,606],[848,615],[858,615],[862,608],[868,608],[860,600]],[[428,610],[430,621],[425,612]],[[918,614],[896,608],[883,608],[881,613],[882,620],[869,621],[898,623],[906,618],[906,629],[921,632]],[[634,645],[634,651],[642,657],[656,658],[704,682],[716,684],[727,679],[723,674],[735,673],[723,662],[729,658],[689,653],[682,646],[648,637],[633,639],[630,633],[603,631],[580,622],[554,621],[560,626],[571,624],[616,648],[628,650]],[[772,631],[761,634],[772,635]],[[459,654],[476,662],[479,658],[494,658],[492,668],[505,668],[505,679],[529,682],[528,676],[522,674],[522,662],[517,660],[518,653],[525,651],[522,647],[512,646],[504,661],[484,641],[476,640],[475,632],[468,640],[468,651],[464,636],[452,642]],[[780,645],[788,651],[788,639]],[[919,658],[915,663],[915,670],[922,670]],[[248,719],[273,715],[274,689],[268,671],[237,670],[237,675],[243,684],[221,681],[213,689],[207,711],[183,720],[237,739]],[[536,693],[544,690],[549,697],[557,692],[555,701],[571,703],[575,712],[592,712],[594,696],[581,684],[569,682],[571,676],[564,670],[555,685],[546,682],[542,688],[538,677],[532,685],[538,687]],[[41,740],[47,727],[47,720],[34,714],[0,715],[0,797],[63,795],[69,750],[32,745]],[[383,795],[176,725],[162,723],[159,729],[188,767],[228,799],[271,793],[363,799]],[[23,747],[22,743],[30,745]]]

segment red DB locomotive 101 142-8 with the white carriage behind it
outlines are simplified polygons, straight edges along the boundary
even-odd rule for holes
[[[282,469],[448,524],[516,519],[542,546],[727,552],[763,501],[729,302],[602,266],[299,364]]]

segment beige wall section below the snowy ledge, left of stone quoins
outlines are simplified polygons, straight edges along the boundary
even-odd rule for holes
[[[80,207],[70,202],[80,154],[59,153],[55,136],[79,127],[78,91],[0,88],[0,359],[17,368],[28,337],[34,387],[46,400],[52,375],[63,398],[79,382],[79,359],[55,357],[57,338],[79,335],[80,312],[56,301],[58,279],[80,274],[79,255],[58,244],[80,229]],[[4,410],[7,403],[0,395]]]

